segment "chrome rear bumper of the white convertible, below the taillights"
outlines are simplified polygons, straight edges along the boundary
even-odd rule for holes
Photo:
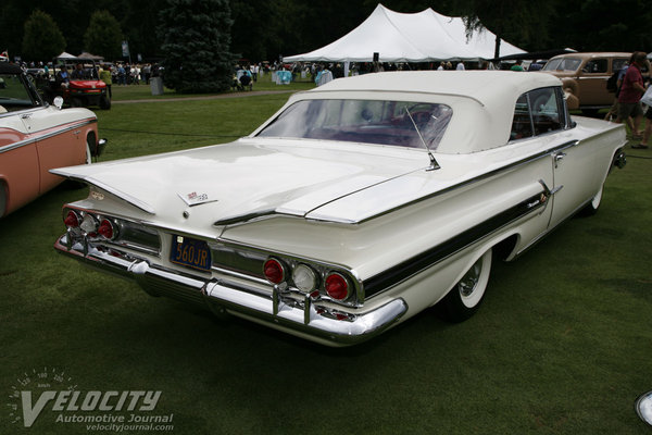
[[[202,279],[152,265],[142,258],[115,249],[109,252],[89,243],[72,244],[70,248],[66,245],[66,235],[63,235],[54,249],[91,268],[134,279],[151,295],[205,304],[214,312],[226,311],[329,346],[348,346],[369,339],[408,311],[408,304],[399,298],[365,313],[334,315],[331,311],[321,309],[309,296],[298,301],[278,288],[271,295],[261,294],[240,282],[208,274],[206,279]]]

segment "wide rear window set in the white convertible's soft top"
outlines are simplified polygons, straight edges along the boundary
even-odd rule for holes
[[[287,108],[258,136],[412,148],[425,148],[425,141],[434,150],[439,146],[451,115],[450,107],[429,102],[303,100]]]

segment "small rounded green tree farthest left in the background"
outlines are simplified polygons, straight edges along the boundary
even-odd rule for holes
[[[23,58],[49,61],[65,50],[65,39],[54,20],[40,9],[35,10],[25,22]]]

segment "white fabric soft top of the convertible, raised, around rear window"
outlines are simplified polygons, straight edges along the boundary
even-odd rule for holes
[[[469,153],[505,145],[518,97],[529,90],[550,86],[561,86],[561,80],[546,73],[386,72],[338,78],[318,88],[294,94],[280,111],[299,100],[322,98],[444,103],[453,109],[453,116],[437,152]]]

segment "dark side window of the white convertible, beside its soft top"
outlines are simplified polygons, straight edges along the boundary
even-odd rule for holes
[[[565,113],[562,112],[564,104],[560,101],[563,98],[561,96],[553,87],[522,95],[516,100],[510,140],[563,129]]]

